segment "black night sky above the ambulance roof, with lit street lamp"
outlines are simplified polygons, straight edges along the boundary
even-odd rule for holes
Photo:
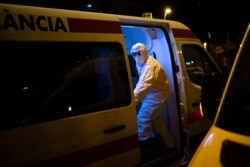
[[[94,3],[94,11],[141,16],[152,12],[153,17],[163,18],[164,8],[172,13],[167,19],[183,22],[201,40],[208,32],[233,33],[242,37],[250,22],[250,5],[247,0],[0,0],[17,4],[31,4],[56,8],[84,10],[84,4]],[[124,3],[125,2],[125,3]],[[112,5],[110,5],[112,4]],[[139,8],[133,7],[139,5]]]

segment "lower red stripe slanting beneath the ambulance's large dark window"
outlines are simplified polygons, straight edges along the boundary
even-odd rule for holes
[[[134,134],[109,143],[39,162],[32,166],[84,166],[136,148],[139,148],[139,140],[137,134]]]

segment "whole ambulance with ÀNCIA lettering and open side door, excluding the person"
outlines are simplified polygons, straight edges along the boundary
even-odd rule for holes
[[[157,136],[138,141],[136,42],[169,79],[170,150]],[[181,166],[188,139],[212,123],[199,110],[201,78],[221,71],[182,23],[2,3],[0,51],[1,167]]]

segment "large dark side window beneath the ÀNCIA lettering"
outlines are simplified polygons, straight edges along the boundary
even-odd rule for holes
[[[129,105],[131,91],[118,43],[1,42],[8,53],[0,130]],[[16,53],[18,51],[18,54]],[[8,75],[7,75],[8,74]]]

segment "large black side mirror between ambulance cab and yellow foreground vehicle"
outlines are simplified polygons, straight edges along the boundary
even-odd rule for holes
[[[201,78],[201,110],[203,116],[210,120],[216,116],[225,86],[222,75],[204,74]]]

